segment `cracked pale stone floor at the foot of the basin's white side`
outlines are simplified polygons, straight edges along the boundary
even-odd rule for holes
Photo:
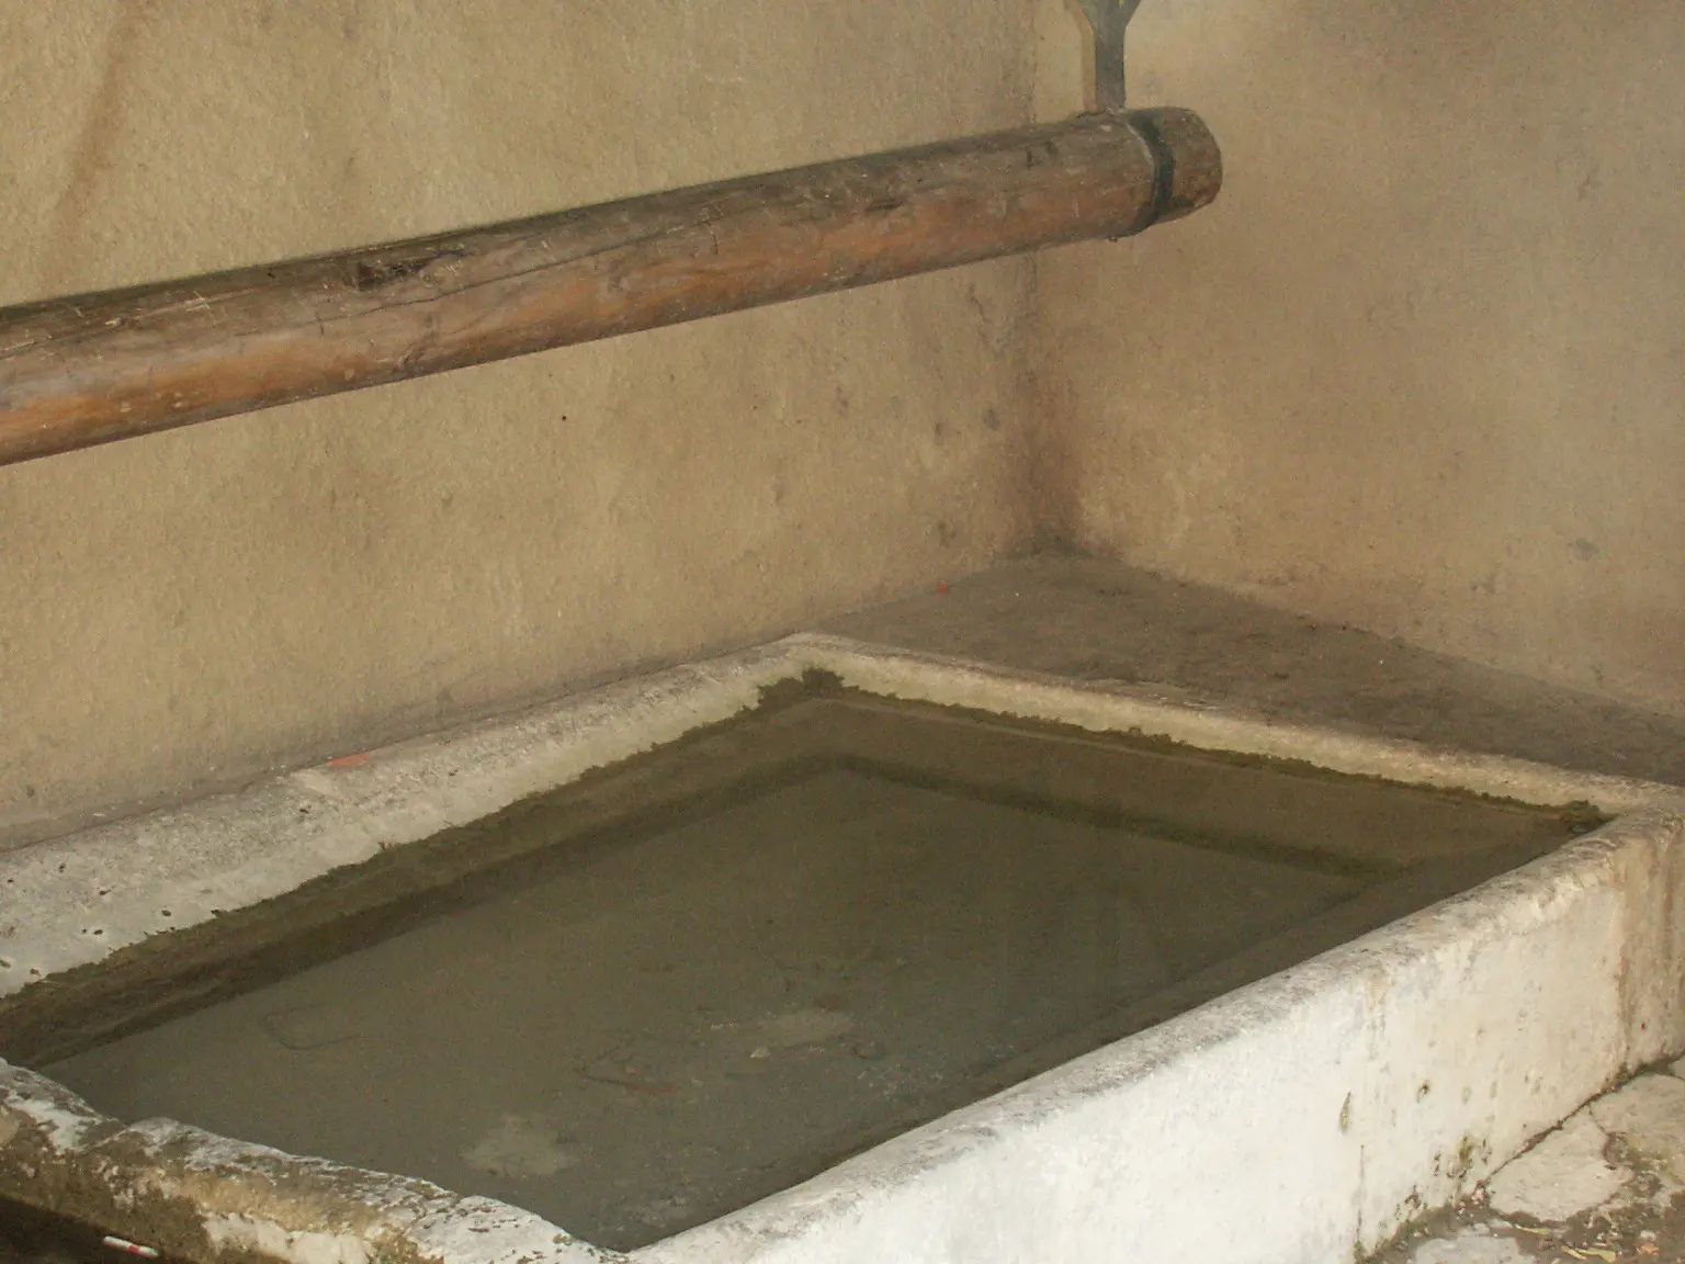
[[[1604,1094],[1373,1264],[1680,1264],[1685,1062]]]

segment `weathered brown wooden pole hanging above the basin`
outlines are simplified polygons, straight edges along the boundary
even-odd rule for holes
[[[1186,110],[827,162],[0,308],[0,465],[231,413],[1178,219],[1222,185]]]

